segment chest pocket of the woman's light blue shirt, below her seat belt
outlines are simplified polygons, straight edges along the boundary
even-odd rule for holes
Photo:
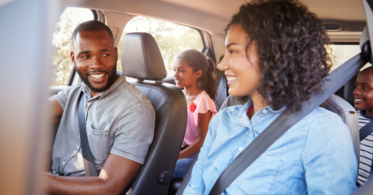
[[[282,167],[279,158],[260,156],[234,181],[242,194],[269,194]]]

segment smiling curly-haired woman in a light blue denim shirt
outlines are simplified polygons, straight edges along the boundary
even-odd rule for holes
[[[230,164],[286,108],[320,93],[332,59],[329,39],[314,13],[293,0],[244,4],[228,24],[219,64],[229,94],[251,99],[219,111],[184,194],[209,194]],[[246,98],[248,99],[248,98]],[[342,119],[316,108],[276,140],[225,194],[351,194],[357,159]]]

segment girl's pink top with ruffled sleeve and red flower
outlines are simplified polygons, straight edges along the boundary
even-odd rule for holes
[[[200,95],[195,98],[194,104],[195,106],[192,106],[192,108],[189,108],[190,105],[187,107],[188,119],[186,121],[186,130],[182,147],[191,145],[198,138],[198,114],[211,111],[212,118],[217,112],[214,101],[205,91],[201,92]],[[191,109],[194,110],[194,112],[191,111]]]

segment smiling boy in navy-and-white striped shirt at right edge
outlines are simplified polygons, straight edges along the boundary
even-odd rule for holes
[[[354,107],[358,109],[359,129],[373,119],[372,67],[363,69],[358,75],[354,89]],[[360,142],[360,163],[357,183],[362,185],[369,178],[372,168],[373,133]]]

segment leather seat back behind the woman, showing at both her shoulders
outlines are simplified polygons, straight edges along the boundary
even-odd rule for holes
[[[234,105],[241,105],[243,104],[239,100],[237,100],[233,96],[228,96],[225,102],[222,105],[223,109],[228,106]],[[354,145],[354,151],[357,160],[359,161],[360,157],[360,137],[359,137],[359,120],[357,118],[357,113],[354,107],[350,105],[350,103],[346,102],[342,97],[337,95],[332,95],[327,99],[323,104],[322,107],[338,114],[344,123],[347,125],[348,129],[350,129],[352,143]]]

